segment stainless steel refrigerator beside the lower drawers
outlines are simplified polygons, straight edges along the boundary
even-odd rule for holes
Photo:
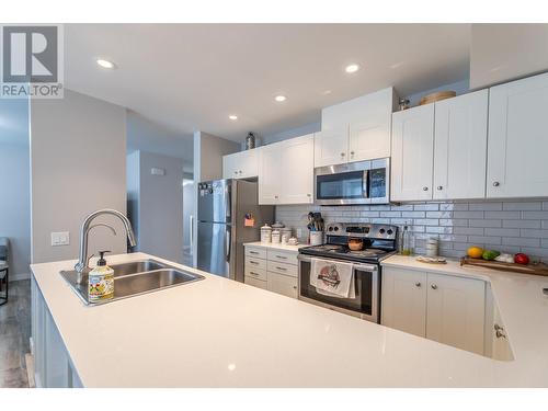
[[[202,182],[197,195],[197,269],[243,283],[243,243],[260,239],[274,207],[260,206],[256,182],[243,180]]]

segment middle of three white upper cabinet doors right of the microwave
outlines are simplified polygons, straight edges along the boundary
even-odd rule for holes
[[[435,199],[486,196],[487,90],[435,103]]]

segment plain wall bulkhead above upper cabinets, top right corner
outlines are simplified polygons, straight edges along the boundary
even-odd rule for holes
[[[548,70],[548,24],[472,24],[470,88]]]

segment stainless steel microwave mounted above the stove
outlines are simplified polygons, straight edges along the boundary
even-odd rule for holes
[[[316,204],[388,204],[389,193],[389,158],[315,169]]]

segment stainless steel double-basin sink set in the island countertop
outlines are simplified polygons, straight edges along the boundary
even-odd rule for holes
[[[114,298],[99,302],[90,302],[88,299],[87,274],[80,284],[77,282],[76,271],[61,271],[60,274],[84,304],[93,306],[204,279],[199,274],[156,260],[132,261],[113,264],[111,267],[114,270]]]

